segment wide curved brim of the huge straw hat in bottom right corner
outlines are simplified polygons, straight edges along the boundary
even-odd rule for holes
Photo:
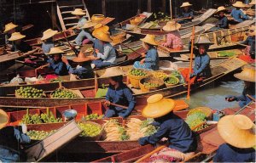
[[[218,132],[226,143],[236,148],[251,148],[256,145],[256,136],[251,130],[243,130],[233,123],[235,115],[226,115],[218,121]]]

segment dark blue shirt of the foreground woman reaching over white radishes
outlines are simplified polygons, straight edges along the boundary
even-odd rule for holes
[[[168,138],[169,147],[177,149],[183,153],[195,151],[196,141],[188,124],[175,114],[168,115],[160,122],[160,128],[153,135],[140,138],[139,143],[146,145],[154,144],[160,141],[161,138]]]

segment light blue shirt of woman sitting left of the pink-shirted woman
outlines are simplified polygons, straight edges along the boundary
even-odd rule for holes
[[[159,55],[156,48],[150,48],[146,53],[145,62],[147,69],[159,70]]]

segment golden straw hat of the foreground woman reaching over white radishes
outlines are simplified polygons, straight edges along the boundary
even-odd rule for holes
[[[154,94],[147,99],[147,106],[143,108],[142,114],[146,118],[159,118],[167,115],[175,107],[173,99],[164,98],[162,94]]]

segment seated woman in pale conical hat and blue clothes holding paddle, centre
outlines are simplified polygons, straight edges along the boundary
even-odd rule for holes
[[[120,116],[126,118],[131,115],[131,111],[135,107],[135,98],[129,87],[123,82],[124,74],[124,71],[120,67],[111,67],[101,76],[109,77],[109,87],[105,102],[109,106],[109,109],[106,111],[105,117]],[[111,103],[126,106],[128,109],[114,106]]]

